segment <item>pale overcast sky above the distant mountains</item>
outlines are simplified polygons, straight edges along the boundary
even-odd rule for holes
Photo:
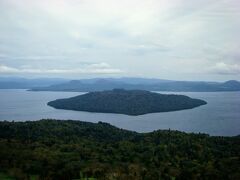
[[[240,1],[0,0],[0,76],[240,80]]]

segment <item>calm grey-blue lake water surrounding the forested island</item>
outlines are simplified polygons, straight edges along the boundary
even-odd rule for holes
[[[170,128],[185,132],[202,132],[219,136],[240,134],[240,92],[174,93],[200,98],[207,101],[208,104],[190,110],[141,116],[58,110],[47,106],[48,101],[79,94],[83,93],[31,92],[22,89],[0,90],[0,120],[73,119],[88,122],[103,121],[120,128],[138,132]]]

